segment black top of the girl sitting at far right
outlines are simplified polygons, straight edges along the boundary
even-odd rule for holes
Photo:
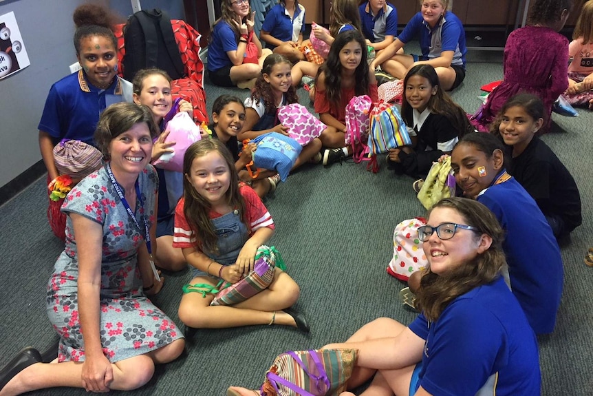
[[[546,216],[559,216],[567,231],[581,225],[581,196],[574,178],[537,136],[513,158],[508,173],[527,190]]]

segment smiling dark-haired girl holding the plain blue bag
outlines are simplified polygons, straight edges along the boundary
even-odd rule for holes
[[[252,153],[257,149],[255,143],[248,143],[247,147],[241,149],[237,134],[243,129],[245,123],[245,106],[239,98],[231,95],[221,95],[212,105],[212,124],[209,129],[212,137],[220,140],[235,161],[235,171],[239,174],[239,180],[247,183],[255,190],[259,198],[265,197],[268,193],[276,190],[280,181],[280,175],[276,171],[263,170],[257,178],[252,178],[246,169],[246,165],[252,160]]]

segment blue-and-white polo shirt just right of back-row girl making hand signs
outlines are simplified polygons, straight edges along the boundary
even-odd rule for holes
[[[297,42],[299,33],[305,32],[305,8],[297,3],[294,17],[290,18],[286,8],[282,4],[277,4],[266,14],[261,30],[270,33],[272,37],[280,41]],[[274,49],[274,46],[270,44],[266,44],[266,47],[270,50]]]

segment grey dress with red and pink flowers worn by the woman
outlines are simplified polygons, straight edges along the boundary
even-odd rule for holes
[[[158,178],[149,165],[138,176],[142,205],[136,202],[136,219],[129,218],[105,167],[80,181],[67,195],[62,210],[78,213],[103,225],[100,290],[100,336],[103,353],[111,363],[162,348],[182,338],[175,323],[144,295],[137,265],[137,250],[144,242],[144,220],[155,220]],[[72,220],[66,224],[66,247],[54,265],[47,284],[47,315],[61,337],[60,362],[85,360],[78,317],[78,255]]]

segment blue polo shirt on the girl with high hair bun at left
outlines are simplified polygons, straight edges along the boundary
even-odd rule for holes
[[[78,70],[52,85],[37,129],[55,140],[81,140],[94,146],[93,136],[103,110],[131,101],[132,85],[128,81],[116,77],[107,90],[100,90],[87,82],[83,70]]]

